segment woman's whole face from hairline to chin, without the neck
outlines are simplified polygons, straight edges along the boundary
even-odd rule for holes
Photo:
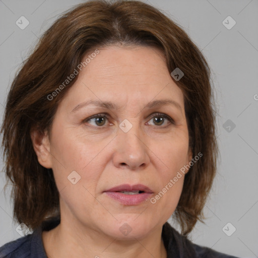
[[[181,195],[184,175],[174,177],[191,159],[183,94],[159,50],[99,50],[36,152],[53,170],[63,221],[140,239],[162,227]]]

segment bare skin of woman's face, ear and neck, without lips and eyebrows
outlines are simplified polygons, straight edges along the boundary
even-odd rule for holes
[[[103,191],[141,183],[155,197],[188,164],[192,153],[183,93],[158,49],[99,50],[59,103],[51,135],[31,134],[38,161],[52,168],[60,196],[61,223],[42,233],[44,248],[52,258],[166,257],[162,226],[176,209],[184,176],[155,204],[147,200],[126,206]],[[118,109],[79,105],[90,99],[111,101]],[[171,104],[146,107],[161,99],[173,100],[181,109]],[[151,118],[157,112],[174,123],[164,117],[162,123],[158,114]],[[86,121],[99,113],[107,114],[106,120]],[[127,133],[119,128],[124,119],[133,126]],[[72,171],[81,176],[76,184],[68,180]],[[126,236],[119,230],[124,223],[132,229]]]

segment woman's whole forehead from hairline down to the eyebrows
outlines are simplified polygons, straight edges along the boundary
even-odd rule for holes
[[[172,80],[159,49],[147,46],[98,49],[99,53],[82,68],[69,89],[67,101],[71,105],[91,99],[136,106],[164,98],[182,105],[182,91]]]

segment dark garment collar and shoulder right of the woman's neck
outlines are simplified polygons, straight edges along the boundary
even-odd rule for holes
[[[237,258],[235,256],[217,252],[211,248],[192,243],[189,239],[172,228],[168,222],[163,225],[162,238],[167,250],[168,258]]]

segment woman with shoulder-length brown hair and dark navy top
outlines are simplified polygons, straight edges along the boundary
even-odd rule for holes
[[[8,95],[14,218],[33,233],[0,257],[233,257],[187,239],[216,172],[214,113],[204,56],[157,9],[62,15]]]

